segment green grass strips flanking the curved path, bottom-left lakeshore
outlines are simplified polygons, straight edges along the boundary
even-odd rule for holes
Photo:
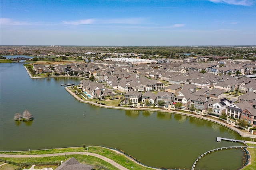
[[[50,154],[50,153],[61,153],[61,152],[87,152],[84,150],[83,147],[74,147],[74,148],[64,148],[64,149],[46,149],[46,150],[31,150],[30,154]],[[89,147],[89,152],[97,153],[111,160],[114,160],[118,164],[130,169],[131,166],[134,169],[139,170],[152,170],[152,168],[144,167],[139,164],[136,164],[132,160],[126,158],[123,154],[117,153],[113,150],[102,148],[102,147]],[[0,152],[1,154],[26,154],[28,155],[28,151],[21,151],[21,152]],[[87,156],[87,155],[63,155],[63,156],[50,156],[50,157],[39,157],[39,158],[3,158],[4,160],[9,160],[12,162],[22,163],[22,162],[60,162],[61,160],[64,162],[69,158],[76,158],[82,164],[93,164],[93,165],[102,165],[111,170],[118,170],[108,162],[96,158],[94,156]],[[6,164],[7,165],[7,164]],[[4,168],[5,165],[1,166]],[[51,168],[51,167],[49,167]],[[13,168],[15,169],[15,168]]]

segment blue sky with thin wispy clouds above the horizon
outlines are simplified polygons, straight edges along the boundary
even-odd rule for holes
[[[0,45],[256,45],[256,0],[0,0]]]

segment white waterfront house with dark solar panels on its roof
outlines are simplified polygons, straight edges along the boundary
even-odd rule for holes
[[[227,98],[220,98],[212,102],[208,102],[208,111],[212,109],[212,113],[220,116],[222,112],[226,111],[226,107],[232,105],[233,102]]]

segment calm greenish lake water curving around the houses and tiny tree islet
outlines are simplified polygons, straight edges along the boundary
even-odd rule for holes
[[[122,149],[156,168],[191,169],[204,152],[241,145],[216,137],[241,139],[226,127],[173,113],[105,109],[75,100],[63,86],[78,78],[31,79],[23,63],[0,63],[0,149],[36,150],[101,145]],[[14,121],[27,109],[30,122]],[[242,150],[222,150],[202,158],[196,169],[236,170]]]

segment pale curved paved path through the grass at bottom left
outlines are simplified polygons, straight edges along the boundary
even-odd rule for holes
[[[49,156],[62,156],[62,155],[71,155],[71,154],[82,154],[82,155],[87,155],[87,152],[65,152],[65,153],[54,153],[54,154],[32,154],[32,155],[12,155],[12,154],[0,154],[0,157],[8,157],[8,158],[35,158],[35,157],[49,157]],[[114,160],[111,160],[109,158],[106,158],[105,156],[96,154],[96,153],[88,153],[89,156],[94,156],[97,158],[100,158],[110,164],[112,164],[113,166],[115,166],[116,168],[120,169],[120,170],[129,170],[127,168],[125,168],[124,166],[116,163]]]

